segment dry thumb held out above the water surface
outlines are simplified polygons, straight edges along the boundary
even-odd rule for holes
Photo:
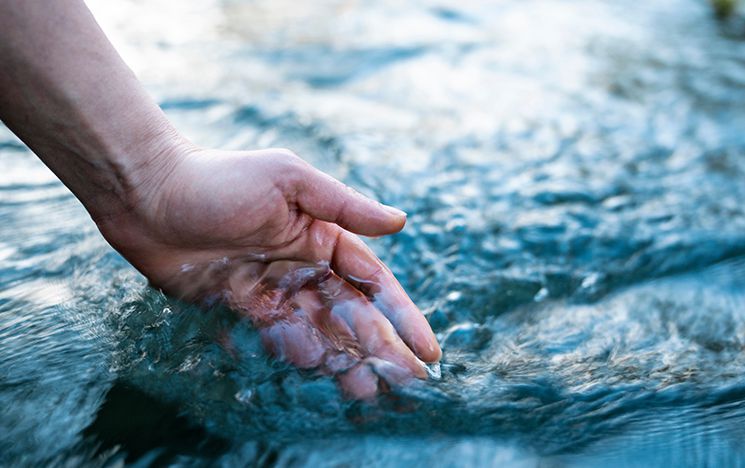
[[[382,205],[309,164],[294,179],[294,199],[303,212],[364,236],[382,236],[403,229],[406,213]]]

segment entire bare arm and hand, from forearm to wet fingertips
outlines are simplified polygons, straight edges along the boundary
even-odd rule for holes
[[[221,301],[268,350],[372,398],[424,378],[426,319],[357,236],[406,215],[285,149],[184,138],[80,0],[0,0],[0,119],[155,287]]]

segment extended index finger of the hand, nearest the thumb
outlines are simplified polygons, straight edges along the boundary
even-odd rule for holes
[[[336,243],[331,267],[371,298],[420,359],[425,362],[440,360],[442,351],[427,319],[411,301],[393,273],[360,238],[346,232],[342,233]]]

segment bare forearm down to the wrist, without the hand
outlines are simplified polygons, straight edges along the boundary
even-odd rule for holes
[[[0,119],[94,218],[129,209],[182,143],[82,0],[0,0]]]

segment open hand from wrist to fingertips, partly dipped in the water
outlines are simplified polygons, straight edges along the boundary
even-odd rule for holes
[[[104,237],[153,285],[250,317],[270,352],[336,375],[353,398],[426,372],[440,348],[391,271],[353,233],[401,230],[406,215],[287,150],[181,145],[134,187]]]

